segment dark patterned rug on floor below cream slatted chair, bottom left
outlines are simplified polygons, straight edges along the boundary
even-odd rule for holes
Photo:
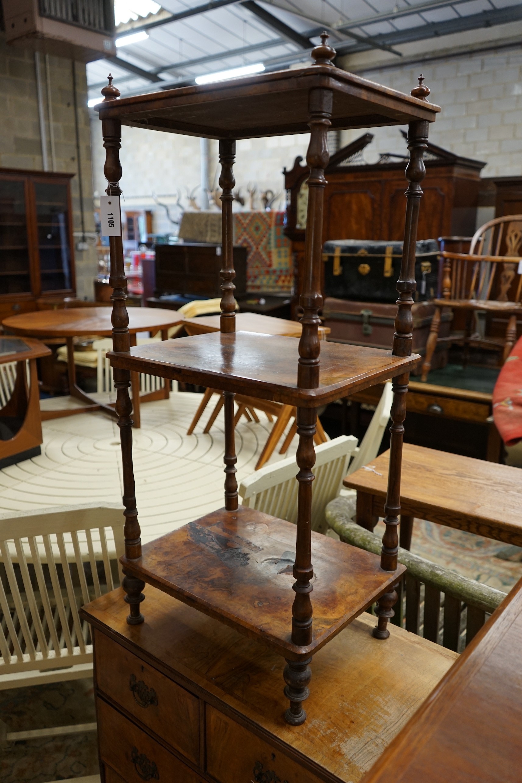
[[[92,679],[0,691],[7,731],[95,721]],[[1,783],[45,783],[99,772],[96,734],[25,740],[0,749]]]

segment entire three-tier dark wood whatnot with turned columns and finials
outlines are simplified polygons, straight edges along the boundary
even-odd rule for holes
[[[125,601],[128,622],[143,622],[146,583],[164,590],[200,612],[267,644],[286,659],[285,717],[306,719],[312,655],[366,608],[377,602],[377,639],[389,635],[388,619],[396,601],[401,446],[412,355],[412,294],[420,182],[427,129],[439,108],[428,103],[429,89],[419,85],[406,96],[333,66],[335,51],[322,44],[312,64],[214,85],[178,88],[118,99],[112,85],[103,88],[97,106],[106,148],[109,195],[119,195],[121,125],[203,136],[219,140],[222,189],[221,331],[131,348],[125,307],[126,280],[122,241],[110,237],[110,285],[113,287],[113,366],[116,410],[121,429],[124,472]],[[398,280],[398,315],[391,351],[320,343],[322,305],[322,203],[329,161],[329,128],[409,125],[406,167],[405,241]],[[232,189],[236,139],[310,132],[307,163],[308,217],[302,334],[273,337],[236,332],[232,262]],[[130,372],[200,384],[221,390],[225,399],[225,507],[191,521],[142,547],[132,468]],[[380,557],[311,532],[311,493],[315,462],[317,409],[335,399],[393,379],[391,469],[386,503],[386,532]],[[234,395],[250,395],[297,407],[297,527],[238,504],[234,442]],[[176,481],[175,475],[172,481]],[[313,565],[312,565],[313,561]],[[312,615],[313,606],[313,615]],[[145,612],[146,614],[146,612]]]

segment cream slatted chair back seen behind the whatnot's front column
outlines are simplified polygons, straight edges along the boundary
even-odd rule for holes
[[[311,496],[311,529],[326,532],[325,508],[343,485],[348,461],[357,446],[353,435],[341,435],[315,448],[315,481]],[[295,457],[265,465],[239,486],[243,506],[264,511],[293,524],[297,521],[297,464]]]

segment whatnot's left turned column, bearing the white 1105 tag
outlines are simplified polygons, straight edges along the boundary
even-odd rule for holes
[[[119,90],[112,84],[113,77],[109,75],[109,85],[102,90],[103,103],[116,100],[120,96]],[[119,120],[103,120],[103,146],[106,150],[105,166],[103,173],[108,182],[107,196],[117,196],[121,194],[121,122]],[[121,223],[121,219],[120,219]],[[128,352],[131,349],[131,336],[128,331],[128,312],[125,305],[127,300],[127,278],[124,271],[123,241],[121,236],[110,236],[110,286],[113,288],[111,301],[113,303],[112,324],[113,324],[113,350],[119,353]],[[121,440],[121,459],[123,471],[124,496],[123,504],[125,507],[124,517],[124,538],[125,538],[125,557],[128,560],[137,560],[142,556],[142,539],[140,538],[140,529],[138,521],[138,510],[136,508],[134,469],[132,466],[132,402],[128,390],[131,386],[131,373],[129,370],[113,369],[114,388],[117,390],[116,413],[118,416],[117,424],[120,428]],[[136,579],[123,569],[125,574],[123,587],[125,590],[125,601],[129,604],[130,613],[127,622],[130,625],[137,625],[143,622],[143,615],[140,612],[139,604],[144,599],[142,590],[145,583],[141,579]]]

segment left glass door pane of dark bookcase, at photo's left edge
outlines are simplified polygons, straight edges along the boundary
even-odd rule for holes
[[[23,179],[0,179],[0,290],[31,293]]]

